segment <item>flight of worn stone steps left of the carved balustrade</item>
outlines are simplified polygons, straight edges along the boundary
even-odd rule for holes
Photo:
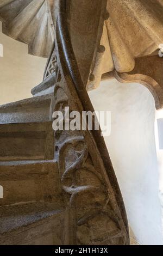
[[[43,94],[47,84],[33,91]],[[52,103],[53,94],[45,94],[0,106],[1,245],[63,244]]]

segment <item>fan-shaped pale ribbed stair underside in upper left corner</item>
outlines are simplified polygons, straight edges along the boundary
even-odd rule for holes
[[[29,53],[48,57],[54,41],[54,24],[48,0],[1,0],[3,33],[28,44]]]

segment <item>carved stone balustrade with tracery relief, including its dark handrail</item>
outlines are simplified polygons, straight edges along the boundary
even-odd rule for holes
[[[102,1],[106,3],[106,1]],[[54,51],[54,105],[51,112],[91,111],[67,26],[67,1],[60,0]],[[102,5],[104,8],[104,5]],[[64,244],[128,245],[128,223],[120,188],[101,130],[55,131],[55,160],[66,206]]]

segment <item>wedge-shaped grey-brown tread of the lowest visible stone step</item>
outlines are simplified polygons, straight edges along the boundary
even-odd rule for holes
[[[60,214],[62,210],[61,205],[45,202],[1,206],[0,235]]]

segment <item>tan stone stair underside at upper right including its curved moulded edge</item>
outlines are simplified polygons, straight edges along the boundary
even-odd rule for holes
[[[109,72],[120,82],[138,82],[153,94],[156,108],[162,108],[162,66],[158,56],[163,41],[163,3],[156,0],[107,0],[101,45],[87,90],[96,89],[101,76]],[[93,79],[92,79],[93,77]]]

